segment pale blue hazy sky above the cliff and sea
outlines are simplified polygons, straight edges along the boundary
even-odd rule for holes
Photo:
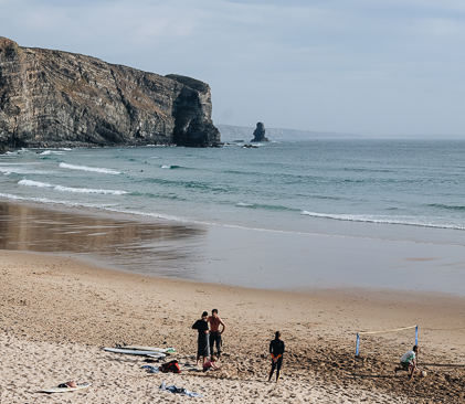
[[[464,0],[0,0],[0,35],[208,83],[216,125],[465,138]]]

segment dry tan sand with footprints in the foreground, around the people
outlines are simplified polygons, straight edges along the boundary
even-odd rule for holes
[[[0,403],[464,403],[465,299],[363,289],[305,294],[167,280],[93,267],[64,255],[0,251]],[[102,347],[175,347],[192,363],[203,310],[226,322],[216,372],[147,373],[142,358]],[[427,378],[394,375],[414,332],[357,331],[420,325]],[[283,376],[266,383],[274,331],[286,343]],[[355,373],[356,370],[356,373]],[[38,391],[68,380],[63,394]],[[161,382],[202,394],[162,392]]]

